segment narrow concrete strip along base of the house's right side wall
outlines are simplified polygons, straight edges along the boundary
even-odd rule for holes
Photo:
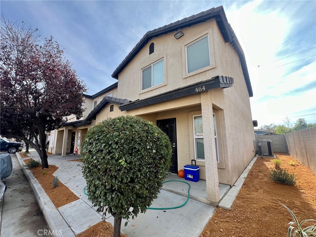
[[[233,187],[230,188],[228,193],[225,195],[225,197],[222,199],[222,201],[218,204],[219,207],[222,207],[222,208],[227,209],[227,210],[229,210],[232,207],[232,205],[237,197],[237,194],[239,193],[239,191],[241,189],[241,186],[243,185],[251,167],[253,166],[253,164],[256,160],[257,160],[256,156],[252,158],[252,160],[249,162],[246,169],[241,173],[241,175],[239,176],[237,181],[234,183]]]

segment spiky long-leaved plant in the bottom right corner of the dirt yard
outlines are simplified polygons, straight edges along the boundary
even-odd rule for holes
[[[288,237],[291,237],[292,232],[293,232],[293,235],[292,235],[293,237],[295,237],[296,234],[298,234],[299,237],[308,237],[308,236],[316,237],[316,220],[308,219],[308,220],[304,220],[301,223],[299,223],[296,216],[294,215],[294,213],[287,206],[283,205],[282,203],[280,203],[280,204],[289,211],[289,213],[292,215],[292,217],[295,221],[295,222],[288,223],[288,225],[290,225],[289,230],[288,230]],[[302,229],[302,225],[305,222],[309,222],[309,221],[314,221],[315,224]],[[296,224],[297,228],[292,226],[293,224]]]

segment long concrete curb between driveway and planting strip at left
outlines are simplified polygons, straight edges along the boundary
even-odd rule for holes
[[[71,230],[70,226],[64,220],[63,216],[56,209],[52,200],[47,196],[45,190],[40,185],[38,180],[34,177],[33,173],[24,165],[25,162],[21,158],[19,153],[15,153],[18,161],[23,169],[25,176],[27,177],[30,185],[33,189],[36,200],[40,206],[40,209],[43,212],[43,215],[46,219],[48,227],[52,233],[52,236],[60,237],[60,230],[62,231],[62,235],[66,237],[75,237],[75,233]]]

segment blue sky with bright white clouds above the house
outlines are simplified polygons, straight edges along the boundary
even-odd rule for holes
[[[39,28],[65,48],[88,94],[117,81],[112,72],[147,31],[220,5],[245,52],[252,119],[259,126],[282,124],[285,116],[315,122],[315,1],[0,2],[6,18]]]

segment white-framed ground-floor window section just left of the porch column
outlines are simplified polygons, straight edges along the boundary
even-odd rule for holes
[[[202,115],[193,116],[194,150],[195,159],[204,160],[204,138]]]

